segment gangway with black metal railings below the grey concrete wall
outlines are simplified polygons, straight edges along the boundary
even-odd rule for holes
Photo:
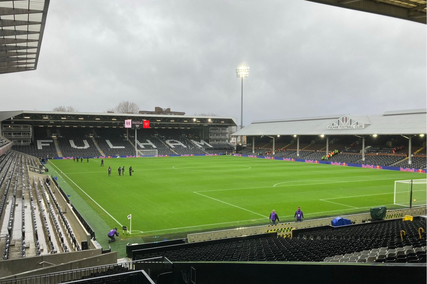
[[[146,258],[136,261],[129,261],[120,264],[108,264],[102,266],[81,268],[75,270],[67,270],[60,272],[53,272],[42,275],[35,275],[30,277],[15,278],[0,281],[0,284],[58,284],[66,281],[74,281],[88,278],[90,275],[97,273],[106,273],[105,275],[114,275],[118,271],[135,271],[144,270],[150,277],[157,278],[161,273],[172,272],[173,263],[166,257],[159,256],[156,258]]]

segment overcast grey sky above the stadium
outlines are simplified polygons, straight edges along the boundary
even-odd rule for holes
[[[426,107],[426,25],[304,0],[50,1],[0,110],[213,112],[243,122]],[[3,96],[6,95],[6,96]]]

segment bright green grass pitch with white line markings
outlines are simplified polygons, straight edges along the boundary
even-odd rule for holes
[[[97,227],[102,219],[110,228],[130,229],[127,215],[132,214],[132,235],[125,238],[184,237],[188,232],[268,224],[272,209],[281,222],[292,221],[298,206],[305,220],[367,212],[382,205],[396,209],[394,181],[426,178],[418,173],[237,156],[104,161],[103,168],[100,159],[50,160],[48,166],[64,191],[76,192],[97,213],[75,204],[91,226]],[[108,166],[113,169],[111,177]],[[119,166],[125,166],[124,176],[118,176]],[[132,177],[129,166],[134,169]],[[74,203],[75,195],[70,195]]]

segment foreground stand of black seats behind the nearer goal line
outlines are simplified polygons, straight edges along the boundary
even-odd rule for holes
[[[350,261],[350,254],[366,255],[374,249],[403,251],[387,255],[387,263],[425,263],[426,234],[418,237],[418,228],[425,228],[425,220],[402,221],[388,220],[361,223],[298,233],[297,238],[276,238],[275,234],[262,234],[257,238],[229,238],[218,241],[205,241],[179,245],[176,249],[163,248],[142,249],[135,251],[136,259],[164,256],[170,261],[330,261],[339,262],[344,258]],[[305,230],[305,229],[301,229]],[[401,230],[407,235],[400,238]],[[416,250],[416,252],[415,252]],[[368,254],[366,256],[374,256]],[[347,260],[348,258],[348,260]],[[352,258],[352,261],[354,258]],[[353,262],[366,262],[364,256]],[[342,260],[341,262],[345,262]],[[377,259],[370,259],[371,262]],[[378,262],[381,262],[379,259]]]

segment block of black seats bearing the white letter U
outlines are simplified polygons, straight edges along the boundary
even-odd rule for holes
[[[85,130],[62,128],[57,130],[59,146],[64,157],[100,156],[90,135]]]

